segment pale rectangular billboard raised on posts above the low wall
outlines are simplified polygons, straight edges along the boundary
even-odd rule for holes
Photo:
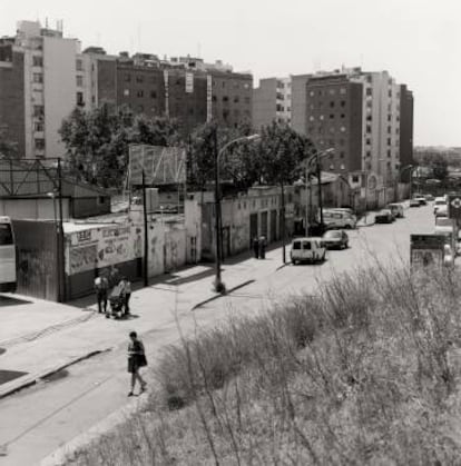
[[[129,147],[128,185],[140,186],[143,171],[148,186],[185,182],[186,150],[182,147],[131,145]]]

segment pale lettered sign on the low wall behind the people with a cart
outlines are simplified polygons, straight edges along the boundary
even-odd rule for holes
[[[110,267],[141,257],[139,226],[108,226],[70,234],[69,275]]]

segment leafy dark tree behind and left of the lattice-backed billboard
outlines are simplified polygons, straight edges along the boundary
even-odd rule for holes
[[[75,176],[106,188],[120,188],[130,143],[171,146],[178,125],[166,118],[134,116],[127,108],[102,106],[89,112],[75,109],[62,122],[61,139]]]

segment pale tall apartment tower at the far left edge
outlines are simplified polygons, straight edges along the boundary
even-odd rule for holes
[[[88,93],[79,41],[59,27],[20,21],[0,49],[0,128],[23,157],[63,156],[58,130]]]

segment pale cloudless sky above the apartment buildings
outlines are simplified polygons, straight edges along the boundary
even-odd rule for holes
[[[255,86],[343,65],[388,70],[413,91],[414,143],[461,147],[460,0],[0,0],[0,36],[47,18],[82,48],[220,59]]]

